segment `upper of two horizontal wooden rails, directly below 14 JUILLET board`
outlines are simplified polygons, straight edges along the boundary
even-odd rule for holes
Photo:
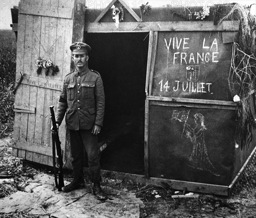
[[[167,101],[167,102],[187,102],[187,103],[198,103],[198,104],[209,104],[209,105],[229,105],[236,107],[236,102],[217,101],[217,100],[206,100],[206,99],[183,99],[183,98],[167,98],[158,96],[149,96],[148,100],[154,101]]]

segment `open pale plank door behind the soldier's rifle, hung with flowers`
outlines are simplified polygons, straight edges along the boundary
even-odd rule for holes
[[[13,154],[52,165],[49,106],[58,105],[64,76],[70,72],[74,0],[31,1],[19,4]],[[36,60],[51,59],[59,68],[55,76],[37,74]],[[50,71],[51,72],[51,71]],[[59,129],[65,148],[66,126]]]

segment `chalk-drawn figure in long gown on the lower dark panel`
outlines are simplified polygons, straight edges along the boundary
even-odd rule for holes
[[[192,154],[189,158],[189,164],[199,170],[207,170],[215,176],[220,176],[215,167],[213,167],[207,154],[207,148],[204,141],[204,115],[196,113],[194,115],[196,127],[192,128],[189,124],[185,125],[186,138],[193,144]]]

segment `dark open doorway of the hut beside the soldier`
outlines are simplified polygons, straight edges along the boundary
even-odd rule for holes
[[[99,71],[105,117],[99,142],[103,170],[144,174],[145,80],[148,33],[86,34],[89,68]]]

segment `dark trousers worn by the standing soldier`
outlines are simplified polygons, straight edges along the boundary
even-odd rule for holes
[[[88,166],[93,183],[101,181],[98,154],[98,136],[92,130],[69,130],[70,147],[74,178],[82,177],[84,166],[84,150],[87,153]]]

